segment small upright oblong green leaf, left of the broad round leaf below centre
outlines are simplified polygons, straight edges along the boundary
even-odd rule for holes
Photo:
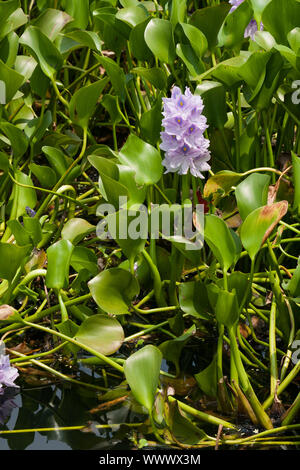
[[[49,289],[65,289],[69,285],[69,267],[74,245],[59,240],[47,249],[46,285]]]

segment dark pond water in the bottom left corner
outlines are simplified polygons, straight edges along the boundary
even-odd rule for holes
[[[80,368],[80,379],[103,386],[101,377],[87,367]],[[124,404],[91,414],[89,411],[100,403],[97,392],[81,386],[65,382],[31,386],[24,382],[20,389],[6,389],[0,396],[0,450],[124,450],[132,446],[127,426],[117,426],[114,430],[96,426],[139,422],[145,418]],[[84,429],[60,429],[69,426]],[[52,430],[1,434],[5,430],[41,428]]]

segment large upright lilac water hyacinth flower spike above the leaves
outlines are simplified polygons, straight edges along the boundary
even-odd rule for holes
[[[189,88],[183,94],[175,86],[171,98],[164,98],[163,103],[160,148],[165,151],[162,163],[166,173],[185,175],[190,171],[193,176],[204,178],[201,171],[210,169],[210,152],[209,140],[203,135],[208,126],[202,114],[202,98],[193,95]]]

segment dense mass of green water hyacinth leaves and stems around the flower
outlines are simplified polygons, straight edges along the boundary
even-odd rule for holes
[[[272,433],[300,407],[300,3],[229,10],[208,0],[0,2],[0,301],[11,307],[0,333],[13,341],[26,325],[63,339],[74,361],[84,350],[117,369],[156,438],[181,446],[215,443],[197,420],[234,428],[238,411]],[[264,30],[245,39],[253,17]],[[205,184],[163,175],[162,98],[174,84],[203,98]],[[137,205],[151,217],[153,204],[199,201],[199,250],[174,234],[95,233],[103,202],[129,226]],[[186,371],[191,351],[197,370]],[[186,373],[193,406],[170,395]],[[206,397],[226,420],[197,409]]]

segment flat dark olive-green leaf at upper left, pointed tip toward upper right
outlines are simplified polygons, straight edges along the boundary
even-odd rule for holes
[[[91,85],[86,85],[74,93],[70,101],[70,117],[74,123],[82,128],[88,126],[89,119],[95,111],[107,82],[108,79],[104,78]]]

